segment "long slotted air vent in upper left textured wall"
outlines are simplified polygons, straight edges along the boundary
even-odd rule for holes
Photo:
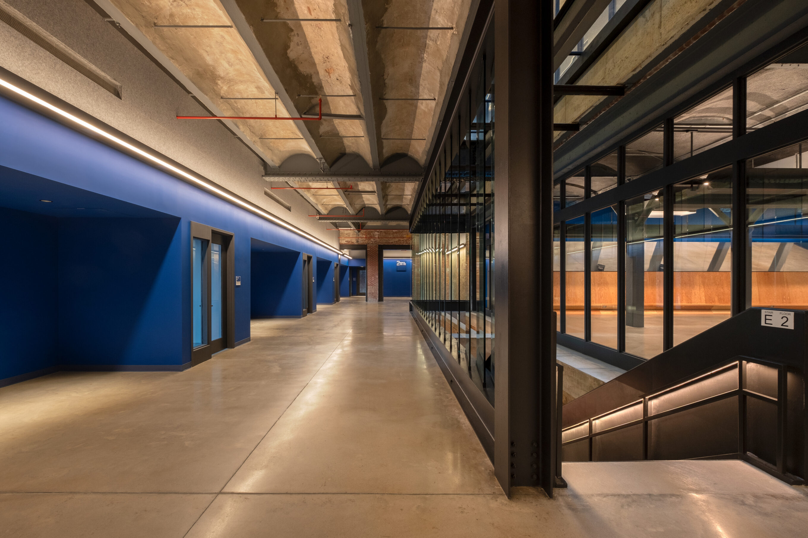
[[[82,56],[78,56],[60,40],[48,34],[47,31],[33,23],[31,19],[28,19],[18,10],[6,4],[6,2],[2,2],[2,0],[0,0],[0,20],[65,62],[65,64],[82,73],[82,75],[107,90],[110,94],[115,95],[116,98],[121,98],[120,84],[114,79],[108,77],[106,73],[103,73],[95,65],[90,64]]]

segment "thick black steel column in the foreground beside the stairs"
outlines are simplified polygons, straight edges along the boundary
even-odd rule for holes
[[[494,473],[553,492],[553,0],[495,9]]]

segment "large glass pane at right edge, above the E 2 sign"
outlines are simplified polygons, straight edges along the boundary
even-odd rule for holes
[[[808,309],[808,144],[747,161],[751,306]]]

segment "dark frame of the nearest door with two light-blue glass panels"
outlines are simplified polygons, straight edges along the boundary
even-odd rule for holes
[[[222,237],[222,249],[225,251],[223,252],[225,259],[225,267],[222,274],[222,282],[225,282],[224,286],[222,286],[222,292],[225,294],[225,300],[222,301],[222,307],[225,309],[222,312],[222,324],[223,324],[223,331],[225,339],[224,348],[221,351],[224,351],[228,348],[236,347],[236,339],[235,339],[235,332],[236,332],[236,285],[235,285],[235,262],[236,262],[236,249],[235,249],[235,235],[232,231],[220,230],[219,228],[215,228],[212,226],[208,226],[206,224],[195,223],[191,221],[191,237],[189,238],[189,248],[188,254],[191,259],[190,265],[190,276],[191,276],[191,300],[188,301],[188,304],[191,307],[191,339],[193,335],[193,296],[194,296],[194,265],[193,265],[193,248],[194,248],[194,239],[202,239],[208,241],[208,252],[207,256],[204,259],[205,265],[205,286],[204,296],[207,298],[205,304],[207,305],[208,315],[207,315],[207,322],[208,322],[208,343],[200,345],[197,348],[193,347],[193,341],[191,340],[191,366],[196,366],[204,361],[207,361],[210,357],[213,356],[213,348],[211,347],[210,342],[210,333],[211,333],[211,307],[210,307],[210,248],[213,241],[213,232],[216,232],[218,235]]]

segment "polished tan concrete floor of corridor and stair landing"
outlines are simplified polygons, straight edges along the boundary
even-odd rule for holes
[[[738,461],[565,464],[509,500],[405,300],[260,320],[183,373],[0,389],[0,536],[801,536]]]

